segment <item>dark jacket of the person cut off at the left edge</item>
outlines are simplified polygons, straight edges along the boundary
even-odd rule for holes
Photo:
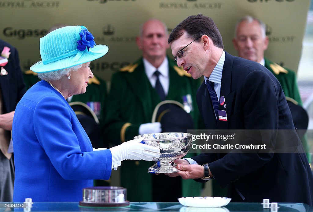
[[[3,113],[15,110],[16,105],[25,93],[22,70],[19,65],[18,51],[3,40],[0,40],[0,53],[4,46],[8,46],[11,54],[8,64],[3,68],[8,71],[8,75],[0,76],[1,94],[3,100]]]

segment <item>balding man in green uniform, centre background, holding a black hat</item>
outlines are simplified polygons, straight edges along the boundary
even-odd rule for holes
[[[142,58],[112,76],[104,131],[105,138],[114,145],[139,134],[162,132],[162,124],[151,120],[154,108],[162,100],[175,100],[187,105],[194,128],[203,126],[199,126],[203,121],[195,99],[201,82],[193,80],[167,57],[167,38],[167,28],[163,22],[156,19],[145,22],[136,39],[142,50]],[[130,201],[168,202],[177,201],[174,196],[177,193],[179,196],[200,195],[201,185],[194,181],[181,182],[176,179],[172,185],[164,185],[171,179],[163,174],[147,173],[152,165],[149,161],[122,163],[121,185],[127,188],[127,199]],[[157,190],[162,193],[158,195]]]

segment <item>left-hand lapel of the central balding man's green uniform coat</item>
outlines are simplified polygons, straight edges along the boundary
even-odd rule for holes
[[[149,86],[151,86],[151,84],[146,76],[142,60],[139,62],[134,72],[126,74],[126,81],[143,106],[145,118],[148,118],[148,114],[153,110],[151,94],[149,92]]]

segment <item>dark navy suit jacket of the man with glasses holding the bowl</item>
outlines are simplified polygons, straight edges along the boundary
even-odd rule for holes
[[[264,66],[226,53],[220,96],[225,97],[227,107],[218,105],[218,109],[226,110],[227,122],[216,121],[206,84],[198,89],[197,103],[207,129],[278,130],[278,136],[263,139],[274,148],[278,139],[299,145],[280,83]],[[247,144],[260,141],[245,132]],[[303,152],[302,145],[298,147]],[[229,185],[232,201],[262,202],[266,198],[313,205],[313,176],[303,153],[203,153],[192,159],[200,165],[209,163],[218,184]]]

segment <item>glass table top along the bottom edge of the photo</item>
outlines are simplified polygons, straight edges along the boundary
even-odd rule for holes
[[[78,202],[34,202],[31,208],[23,203],[0,202],[0,211],[179,211],[179,212],[232,212],[232,211],[312,211],[313,207],[303,203],[278,203],[278,209],[264,209],[260,203],[229,203],[219,208],[185,207],[178,202],[131,202],[127,207],[91,208],[79,206]]]

